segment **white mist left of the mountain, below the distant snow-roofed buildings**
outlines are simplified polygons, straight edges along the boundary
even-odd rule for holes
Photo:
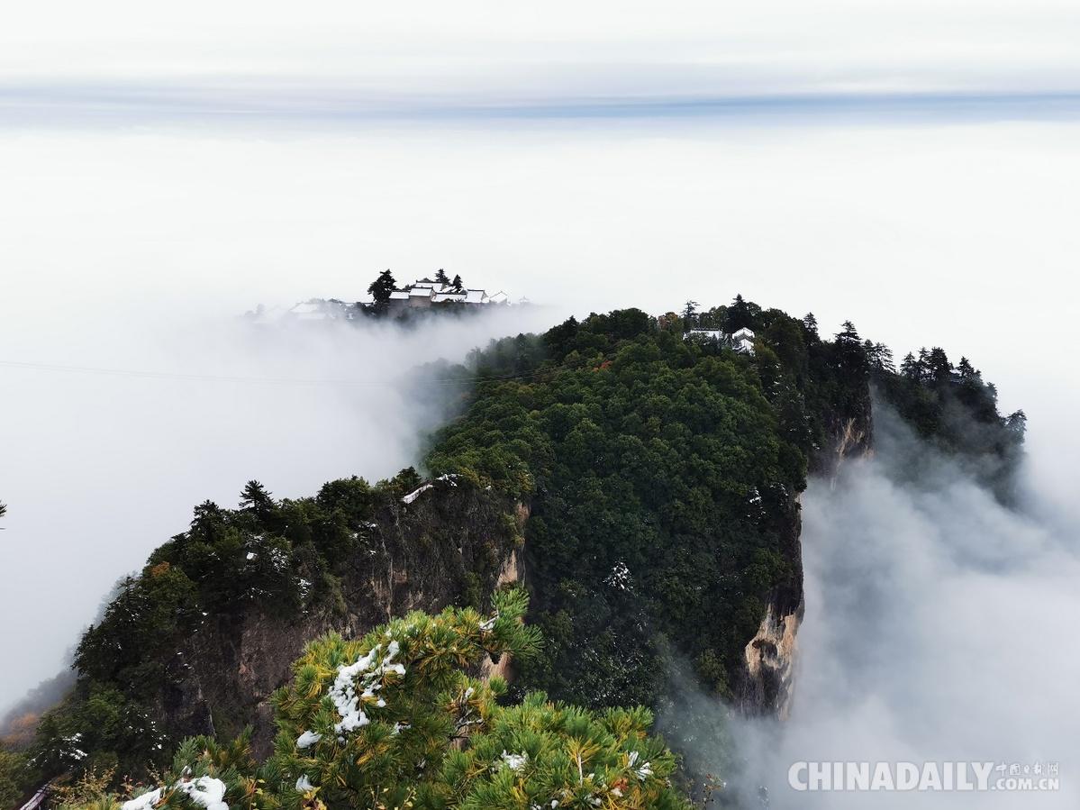
[[[114,581],[197,503],[234,505],[252,478],[295,498],[415,464],[460,395],[437,361],[556,316],[491,308],[402,327],[241,314],[114,306],[19,333],[25,364],[0,374],[0,712],[66,665]]]

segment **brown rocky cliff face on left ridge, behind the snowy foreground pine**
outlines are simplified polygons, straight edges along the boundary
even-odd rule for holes
[[[395,502],[367,525],[339,599],[316,602],[321,607],[295,619],[252,609],[204,621],[168,662],[157,716],[176,738],[227,738],[254,723],[255,752],[268,753],[269,698],[292,676],[308,640],[327,631],[360,636],[409,610],[486,604],[498,584],[522,577],[518,538],[527,514],[503,496],[453,482]]]

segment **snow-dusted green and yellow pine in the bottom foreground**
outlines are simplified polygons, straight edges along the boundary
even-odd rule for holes
[[[447,608],[360,640],[318,638],[273,696],[278,737],[261,767],[247,733],[224,745],[191,738],[137,798],[147,810],[690,810],[672,786],[674,755],[648,734],[648,710],[593,713],[540,692],[508,706],[502,678],[468,674],[488,657],[538,651],[527,607],[511,589],[486,617]],[[77,807],[116,805],[98,796]]]

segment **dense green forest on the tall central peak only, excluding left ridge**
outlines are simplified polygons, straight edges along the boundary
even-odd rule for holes
[[[795,497],[838,417],[868,418],[865,354],[856,336],[823,341],[741,299],[707,318],[753,328],[754,354],[638,310],[503,340],[436,436],[433,472],[531,502],[529,583],[549,644],[521,688],[657,705],[679,653],[732,697],[770,594],[799,592]]]

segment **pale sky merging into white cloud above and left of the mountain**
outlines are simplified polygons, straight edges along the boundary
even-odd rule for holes
[[[432,411],[357,378],[571,312],[742,293],[966,354],[1068,502],[1078,29],[969,0],[0,12],[0,704],[195,502],[405,463]],[[233,321],[388,267],[550,309],[413,343]]]

